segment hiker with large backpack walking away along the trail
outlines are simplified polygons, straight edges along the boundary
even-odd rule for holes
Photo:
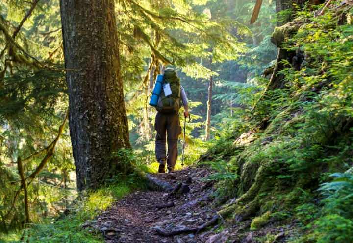
[[[180,86],[180,79],[172,68],[164,71],[164,88],[162,88],[156,106],[154,128],[157,131],[155,138],[155,153],[159,163],[158,172],[173,172],[177,159],[177,140],[181,134],[179,109],[184,106],[184,117],[189,116],[189,106],[184,88]],[[167,95],[165,95],[167,93]],[[167,134],[166,134],[167,133]],[[168,155],[166,155],[166,135],[168,141]]]

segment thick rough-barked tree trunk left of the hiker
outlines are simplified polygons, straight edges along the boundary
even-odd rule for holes
[[[130,147],[114,0],[60,0],[60,8],[77,187],[94,189],[130,168],[112,157]]]

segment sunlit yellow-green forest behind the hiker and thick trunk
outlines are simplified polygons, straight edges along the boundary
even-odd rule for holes
[[[251,112],[266,85],[262,72],[274,64],[277,54],[270,42],[277,22],[275,3],[264,1],[259,20],[250,25],[253,5],[230,0],[117,1],[133,148],[120,153],[156,170],[155,110],[148,100],[160,64],[177,70],[190,101],[185,164],[221,136],[233,135],[227,134],[229,127],[239,126],[237,122]],[[53,0],[0,3],[3,232],[21,228],[29,219],[41,222],[56,216],[76,197],[59,8]],[[153,17],[156,13],[162,18]],[[181,168],[180,161],[176,168]],[[23,175],[31,179],[27,195],[22,193]]]

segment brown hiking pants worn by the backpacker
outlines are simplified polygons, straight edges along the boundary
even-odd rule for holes
[[[157,112],[154,128],[157,131],[155,153],[159,163],[165,163],[169,170],[174,170],[177,159],[177,139],[181,134],[179,114],[161,114]],[[166,133],[168,140],[168,155],[166,156]]]

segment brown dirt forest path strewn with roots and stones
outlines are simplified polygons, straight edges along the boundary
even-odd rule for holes
[[[202,180],[209,174],[206,168],[187,168],[153,175],[174,188],[183,184],[176,193],[137,191],[127,195],[104,211],[90,227],[99,229],[107,243],[205,243],[215,234],[212,229],[219,226],[217,208],[210,205],[212,182]],[[163,206],[169,207],[158,209]],[[200,226],[204,230],[161,236],[163,232]]]

